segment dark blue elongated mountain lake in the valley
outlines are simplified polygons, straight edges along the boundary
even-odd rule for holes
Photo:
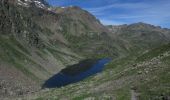
[[[105,64],[110,61],[111,58],[84,60],[78,64],[68,66],[48,79],[44,83],[43,88],[62,87],[71,83],[79,82],[91,75],[101,72]]]

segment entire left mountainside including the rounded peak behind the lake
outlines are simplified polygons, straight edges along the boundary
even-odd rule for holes
[[[88,12],[78,7],[69,7],[63,12],[58,12],[58,8],[49,8],[43,2],[40,4],[45,7],[39,7],[37,2],[40,1],[0,1],[0,61],[2,63],[0,78],[3,79],[0,83],[2,87],[0,95],[2,97],[36,91],[46,79],[67,65],[97,54],[96,51],[99,50],[94,48],[96,44],[101,48],[103,44],[109,43],[105,41],[110,39],[107,28]],[[75,12],[76,15],[73,14]],[[70,24],[68,20],[71,20]],[[81,45],[83,49],[80,51],[78,45],[85,41],[87,44]],[[91,51],[87,51],[89,48],[92,48]],[[109,48],[102,47],[101,51],[103,50]],[[9,69],[8,66],[12,68]],[[5,70],[6,73],[3,73]],[[11,71],[13,74],[10,74]],[[5,85],[4,82],[9,85]],[[20,85],[17,85],[18,82]],[[6,88],[8,86],[9,88]],[[15,89],[16,87],[18,90]]]

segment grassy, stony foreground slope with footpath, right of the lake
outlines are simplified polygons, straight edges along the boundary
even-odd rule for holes
[[[130,100],[134,96],[132,93],[134,91],[140,100],[162,100],[170,95],[169,62],[168,44],[139,57],[114,60],[100,74],[66,87],[42,91],[34,97],[37,100],[46,98]]]

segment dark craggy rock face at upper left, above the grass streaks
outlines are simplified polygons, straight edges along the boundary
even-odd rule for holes
[[[40,28],[24,14],[22,10],[25,8],[18,9],[9,2],[1,2],[0,5],[0,34],[14,36],[33,46],[42,45],[37,32]]]

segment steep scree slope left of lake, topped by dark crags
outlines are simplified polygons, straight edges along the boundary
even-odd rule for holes
[[[5,88],[6,86],[2,83],[1,96],[3,94],[20,95],[15,89],[18,81],[21,82],[21,85],[17,86],[20,88],[20,93],[23,84],[30,83],[27,78],[33,83],[35,81],[37,84],[41,84],[41,81],[48,79],[66,65],[76,63],[82,58],[72,52],[62,41],[53,45],[50,38],[50,34],[52,36],[53,33],[34,22],[31,18],[34,12],[31,9],[34,11],[43,9],[36,7],[30,9],[11,1],[0,1],[0,6],[0,61],[3,64],[0,69],[7,70],[7,67],[10,66],[14,75],[18,73],[17,76],[23,76],[23,78],[17,76],[12,78],[13,74],[1,73],[0,78],[6,84],[13,84],[10,88]],[[6,72],[10,73],[11,70]],[[40,85],[38,86],[40,87]],[[26,87],[29,87],[29,84],[24,86],[24,89],[27,89]],[[3,93],[6,89],[9,92]]]

